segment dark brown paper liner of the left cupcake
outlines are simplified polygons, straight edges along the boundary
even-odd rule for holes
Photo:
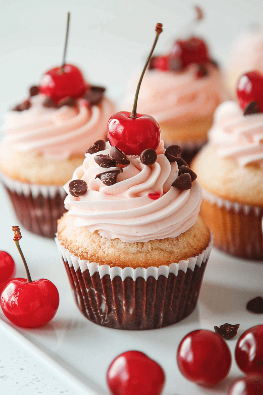
[[[66,212],[63,186],[29,184],[0,175],[19,222],[39,236],[55,237],[57,220]]]

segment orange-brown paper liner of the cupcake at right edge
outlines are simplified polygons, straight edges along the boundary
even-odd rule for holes
[[[217,248],[241,258],[263,260],[263,207],[222,199],[203,189],[200,215]]]

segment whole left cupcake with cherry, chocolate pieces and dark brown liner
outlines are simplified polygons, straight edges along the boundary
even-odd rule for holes
[[[105,138],[114,105],[104,90],[65,64],[45,73],[29,97],[4,116],[1,181],[17,218],[37,235],[54,237],[65,212],[63,185],[91,143]]]

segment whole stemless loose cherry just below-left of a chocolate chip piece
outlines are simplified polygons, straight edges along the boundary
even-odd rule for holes
[[[188,333],[179,344],[177,364],[187,380],[213,387],[228,375],[231,354],[217,333],[199,329]]]

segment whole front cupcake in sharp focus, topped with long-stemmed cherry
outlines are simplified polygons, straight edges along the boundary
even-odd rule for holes
[[[109,142],[93,144],[66,184],[56,239],[80,311],[116,329],[187,317],[212,245],[196,174],[179,146],[164,149],[156,120],[136,113],[139,87],[132,113],[110,117]]]

